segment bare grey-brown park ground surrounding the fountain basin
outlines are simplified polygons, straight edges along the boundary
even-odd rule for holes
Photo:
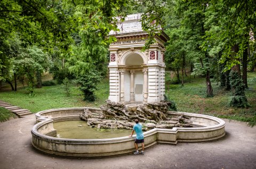
[[[35,116],[0,123],[0,168],[256,168],[256,127],[226,120],[226,135],[211,142],[157,144],[145,155],[67,158],[46,155],[31,146]]]

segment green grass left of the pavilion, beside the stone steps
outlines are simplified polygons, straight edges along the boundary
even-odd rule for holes
[[[0,92],[0,98],[15,106],[38,112],[47,109],[65,107],[100,107],[108,98],[108,79],[103,79],[95,92],[97,99],[94,102],[83,101],[82,92],[77,86],[72,86],[70,96],[67,97],[62,85],[44,86],[35,89],[35,96],[29,96],[26,89]]]

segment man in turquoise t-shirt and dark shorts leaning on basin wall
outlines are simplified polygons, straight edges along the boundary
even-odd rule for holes
[[[133,126],[133,130],[132,130],[132,134],[130,136],[133,135],[134,131],[136,132],[136,139],[135,139],[135,142],[134,142],[134,146],[135,146],[135,149],[136,151],[133,152],[133,154],[144,154],[144,135],[143,135],[143,132],[142,132],[142,125],[139,124],[139,120],[138,119],[135,119],[135,125]],[[138,151],[138,144],[141,143],[142,145],[142,151],[139,153]]]

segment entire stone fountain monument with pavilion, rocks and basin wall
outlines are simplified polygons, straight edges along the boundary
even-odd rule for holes
[[[141,15],[127,15],[118,23],[119,32],[110,35],[117,42],[109,46],[109,100],[100,108],[61,108],[37,112],[31,144],[47,154],[70,157],[106,157],[131,153],[134,139],[129,136],[111,139],[58,138],[54,123],[85,120],[92,128],[132,130],[133,120],[140,119],[145,145],[157,143],[212,141],[225,135],[225,122],[212,116],[168,111],[164,102],[164,43],[168,36],[161,30],[148,51],[141,49],[147,33],[141,28]],[[143,104],[142,104],[143,103]],[[129,108],[125,104],[135,104]],[[140,104],[140,105],[138,105]],[[79,127],[79,126],[78,126]]]

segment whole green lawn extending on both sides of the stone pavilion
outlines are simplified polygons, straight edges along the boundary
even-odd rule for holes
[[[175,77],[170,79],[170,75],[166,74],[166,95],[177,104],[178,111],[241,120],[249,122],[250,125],[256,124],[256,73],[248,73],[249,88],[245,93],[251,107],[247,109],[227,107],[232,93],[221,88],[213,79],[213,97],[206,97],[203,77],[191,77],[190,83],[189,77],[185,77],[183,87],[175,84],[175,80]],[[29,109],[31,112],[64,107],[100,107],[108,99],[109,83],[108,79],[100,82],[95,92],[97,100],[94,102],[83,101],[82,92],[75,85],[71,87],[69,97],[65,95],[62,85],[36,88],[35,93],[35,96],[29,96],[26,89],[19,89],[17,92],[3,91],[0,92],[0,100]]]

